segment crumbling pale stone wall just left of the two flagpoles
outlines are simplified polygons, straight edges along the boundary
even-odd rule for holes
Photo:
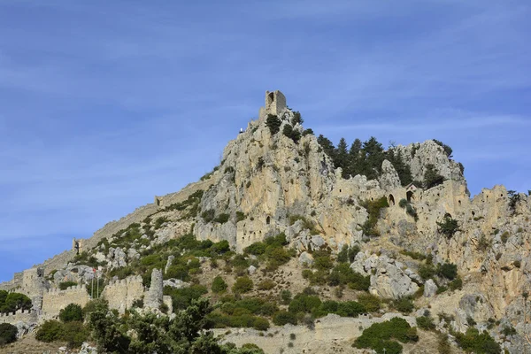
[[[58,316],[68,304],[84,307],[90,301],[85,285],[77,285],[66,290],[50,289],[42,296],[42,312],[49,319]]]

